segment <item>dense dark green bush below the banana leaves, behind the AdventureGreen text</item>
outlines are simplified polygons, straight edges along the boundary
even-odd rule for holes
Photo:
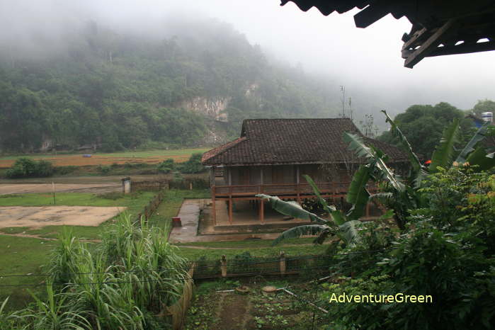
[[[402,235],[379,234],[369,225],[334,271],[348,276],[344,261],[380,261],[355,267],[357,280],[329,285],[323,297],[402,293],[431,295],[433,302],[330,304],[332,329],[493,328],[495,176],[453,166],[427,180],[421,190],[426,206],[411,210],[411,226]]]

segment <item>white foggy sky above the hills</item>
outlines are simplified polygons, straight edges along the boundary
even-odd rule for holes
[[[323,16],[316,8],[300,11],[278,0],[24,0],[0,2],[0,47],[50,56],[64,49],[67,31],[89,20],[118,31],[163,35],[159,22],[217,18],[261,45],[273,62],[301,65],[308,74],[346,86],[346,96],[362,112],[367,107],[392,113],[414,103],[452,103],[462,109],[477,100],[495,99],[495,52],[423,59],[414,69],[403,66],[401,36],[406,18],[382,18],[355,28],[353,15]],[[336,93],[338,95],[338,93]],[[373,105],[359,102],[375,99]]]

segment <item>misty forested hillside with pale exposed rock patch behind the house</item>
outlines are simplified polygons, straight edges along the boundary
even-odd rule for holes
[[[158,36],[91,21],[50,51],[38,41],[30,51],[0,50],[2,152],[211,145],[238,135],[244,118],[333,117],[338,109],[325,84],[274,66],[217,21]]]

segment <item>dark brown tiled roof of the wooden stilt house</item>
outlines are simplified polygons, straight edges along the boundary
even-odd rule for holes
[[[363,137],[348,118],[246,119],[239,139],[210,150],[202,160],[207,166],[360,162],[343,142],[344,132]],[[391,161],[407,160],[397,147],[363,139],[382,149]]]

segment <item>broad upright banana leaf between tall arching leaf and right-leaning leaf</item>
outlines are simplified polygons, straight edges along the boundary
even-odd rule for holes
[[[438,171],[437,167],[448,168],[452,164],[454,156],[454,144],[457,141],[459,135],[459,120],[455,119],[452,124],[445,127],[443,130],[440,143],[436,146],[433,156],[431,157],[431,164],[429,168],[430,173]]]

